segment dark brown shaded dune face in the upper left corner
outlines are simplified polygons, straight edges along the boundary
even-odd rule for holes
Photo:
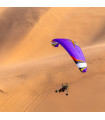
[[[2,16],[0,17],[1,62],[11,57],[9,52],[14,51],[13,49],[18,44],[21,44],[24,37],[27,36],[34,25],[39,21],[40,17],[47,12],[47,10],[48,8],[4,9]]]

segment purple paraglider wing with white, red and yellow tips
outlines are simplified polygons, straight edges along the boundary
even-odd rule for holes
[[[87,71],[87,63],[85,57],[83,55],[81,48],[78,46],[76,42],[70,39],[57,38],[53,39],[51,43],[54,47],[58,47],[59,44],[62,45],[65,48],[65,50],[69,53],[69,55],[72,57],[80,71],[83,73]]]

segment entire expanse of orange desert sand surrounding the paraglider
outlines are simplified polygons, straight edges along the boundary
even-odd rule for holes
[[[0,8],[0,111],[105,112],[105,8]],[[81,73],[54,38],[82,48]],[[69,95],[55,93],[68,82]]]

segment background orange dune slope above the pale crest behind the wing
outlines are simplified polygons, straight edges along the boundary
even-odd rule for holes
[[[56,50],[51,47],[50,41],[53,38],[71,38],[81,47],[104,42],[104,8],[47,8],[47,11],[46,8],[43,8],[46,12],[42,16],[39,15],[39,11],[42,10],[41,13],[44,11],[42,8],[8,9],[10,9],[8,16],[17,14],[18,17],[10,19],[7,16],[6,20],[9,18],[10,22],[7,22],[5,26],[1,24],[1,28],[4,29],[1,30],[1,35],[6,37],[3,37],[2,40],[1,36],[1,41],[6,41],[1,44],[3,55],[0,62],[2,64],[42,59],[47,55],[63,52],[62,48]],[[11,12],[11,9],[16,10]],[[28,12],[24,9],[28,9]],[[37,20],[38,15],[39,21]],[[9,24],[15,19],[18,22],[13,22],[13,27],[9,27]],[[10,32],[8,33],[8,31]]]

